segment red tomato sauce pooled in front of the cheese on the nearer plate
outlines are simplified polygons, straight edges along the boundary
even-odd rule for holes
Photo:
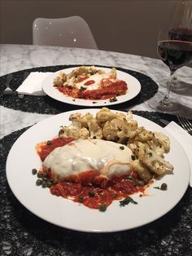
[[[81,202],[89,208],[99,209],[103,204],[108,206],[112,201],[124,199],[136,192],[144,192],[142,186],[136,185],[137,181],[136,173],[129,175],[129,179],[126,176],[114,177],[105,184],[104,188],[95,183],[63,181],[51,186],[50,192],[55,196]]]

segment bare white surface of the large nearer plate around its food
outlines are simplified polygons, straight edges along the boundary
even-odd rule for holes
[[[138,116],[134,118],[139,126],[162,131],[169,136],[171,151],[166,154],[165,159],[170,161],[175,169],[174,174],[167,174],[163,179],[155,181],[146,190],[147,196],[133,195],[137,205],[120,207],[119,201],[114,201],[106,212],[100,212],[63,197],[53,196],[48,188],[37,187],[37,177],[32,174],[33,168],[41,167],[41,161],[35,151],[36,144],[57,136],[60,126],[68,125],[68,117],[76,112],[95,114],[98,109],[81,109],[49,117],[25,131],[12,146],[7,157],[7,180],[21,204],[50,223],[83,232],[117,232],[139,227],[160,218],[177,205],[190,179],[190,167],[185,152],[180,143],[166,130]],[[153,188],[161,183],[168,184],[167,191]]]

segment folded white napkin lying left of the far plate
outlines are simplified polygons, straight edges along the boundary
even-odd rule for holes
[[[24,80],[24,82],[17,88],[17,92],[22,95],[46,95],[42,90],[43,80],[50,75],[51,72],[32,72]]]

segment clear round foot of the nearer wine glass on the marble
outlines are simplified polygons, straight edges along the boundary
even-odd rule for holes
[[[181,112],[181,104],[170,100],[168,104],[162,103],[162,97],[155,97],[148,102],[149,106],[159,113],[175,114]]]

